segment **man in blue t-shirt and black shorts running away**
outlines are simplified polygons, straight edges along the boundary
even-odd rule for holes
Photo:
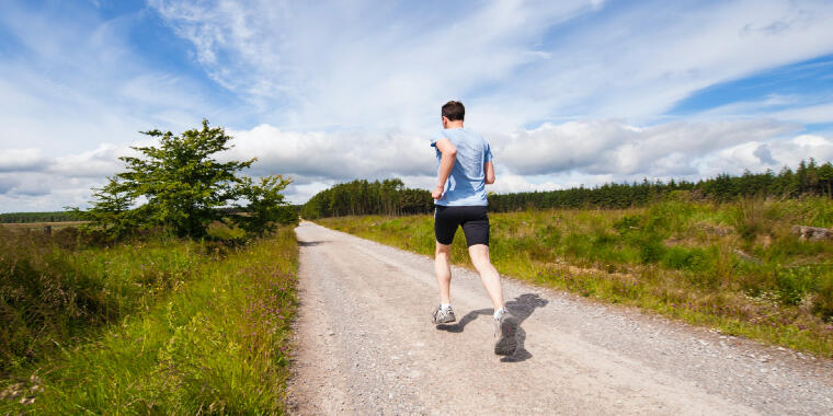
[[[434,235],[436,253],[434,270],[440,284],[440,305],[434,310],[434,324],[455,322],[450,300],[452,268],[448,255],[458,227],[466,235],[469,256],[494,307],[494,354],[512,355],[517,348],[518,321],[506,311],[498,270],[489,259],[489,215],[486,185],[494,183],[494,164],[489,142],[471,129],[463,127],[466,108],[449,101],[443,105],[443,130],[431,138],[436,149],[437,185],[431,193],[435,199]]]

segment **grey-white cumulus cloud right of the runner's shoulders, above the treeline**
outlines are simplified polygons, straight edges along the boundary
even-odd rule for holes
[[[516,174],[563,171],[618,176],[689,176],[697,161],[738,143],[768,140],[796,128],[773,120],[721,123],[672,122],[635,127],[615,120],[545,124],[494,140],[504,163]]]

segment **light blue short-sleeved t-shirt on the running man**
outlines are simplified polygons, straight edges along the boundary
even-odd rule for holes
[[[431,146],[436,151],[437,173],[443,153],[436,148],[436,142],[443,138],[448,139],[457,148],[457,160],[454,162],[448,181],[445,182],[443,197],[434,204],[449,207],[488,205],[483,164],[492,161],[489,142],[473,130],[464,127],[437,131],[431,137]]]

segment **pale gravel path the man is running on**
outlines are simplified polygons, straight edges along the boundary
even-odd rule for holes
[[[504,280],[518,351],[492,353],[479,278],[454,268],[436,328],[430,258],[309,222],[300,242],[297,414],[833,414],[833,365]]]

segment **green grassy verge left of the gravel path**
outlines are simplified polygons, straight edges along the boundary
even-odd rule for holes
[[[99,303],[46,308],[32,299],[28,308],[44,315],[60,316],[66,305],[85,312],[66,313],[44,345],[36,334],[16,335],[37,348],[9,366],[0,413],[283,413],[296,307],[292,228],[226,254],[173,239],[78,249],[62,261],[59,249],[43,250],[55,254],[18,256],[34,264],[27,276],[67,270],[69,280],[47,286],[60,280],[65,291],[88,292],[82,299]],[[36,331],[32,322],[41,321],[14,307],[27,323],[16,326]],[[99,317],[90,320],[93,313]],[[26,397],[33,403],[22,404]]]

